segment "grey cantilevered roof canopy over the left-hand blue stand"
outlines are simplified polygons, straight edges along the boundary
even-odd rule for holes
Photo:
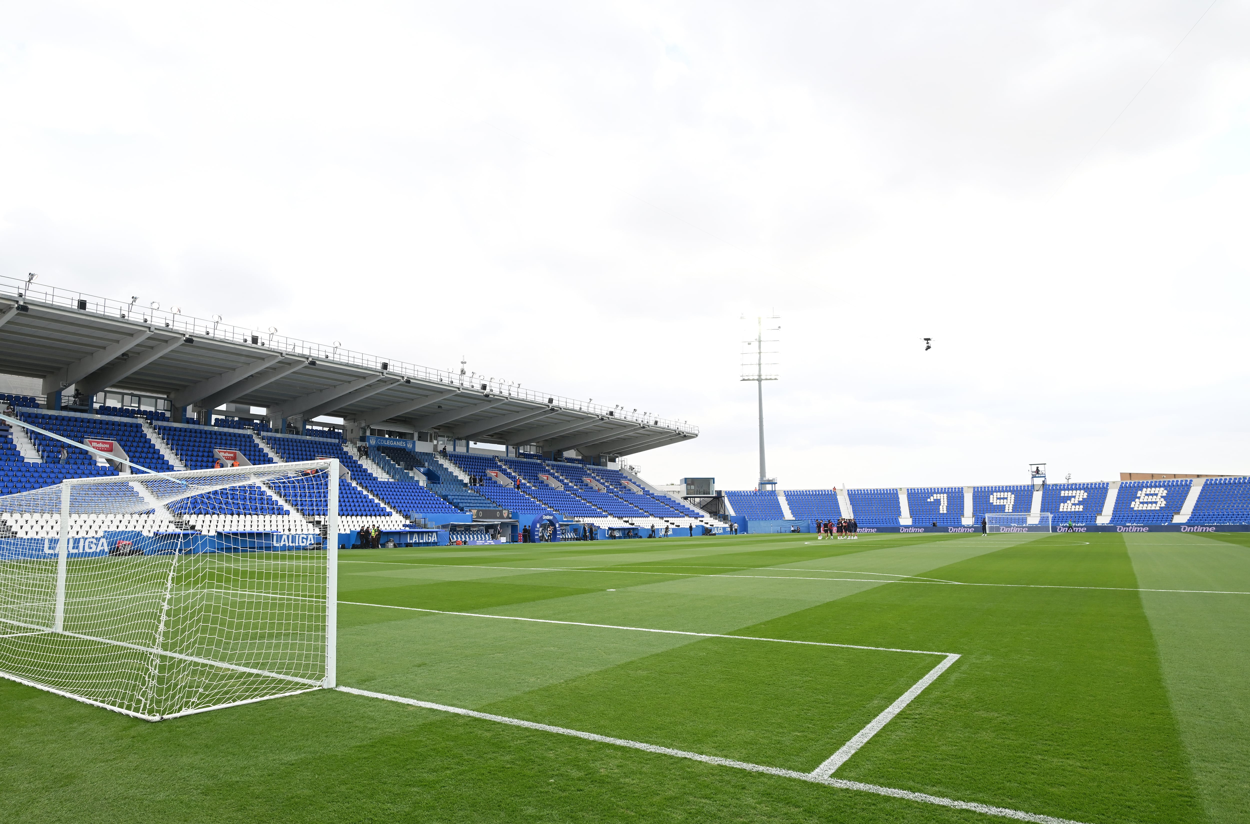
[[[264,406],[272,421],[344,419],[544,451],[630,455],[696,438],[682,421],[389,361],[341,346],[0,276],[0,371],[42,394],[105,389],[186,406]],[[390,426],[388,426],[390,424]]]

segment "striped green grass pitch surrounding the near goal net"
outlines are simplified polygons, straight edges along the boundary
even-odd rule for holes
[[[339,681],[802,774],[955,653],[834,779],[1250,820],[1250,535],[814,538],[344,551]],[[330,690],[0,729],[4,821],[1005,820]]]

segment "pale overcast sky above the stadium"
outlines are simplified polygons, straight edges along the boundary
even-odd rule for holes
[[[1250,473],[1209,6],[4,3],[0,271],[699,425],[652,483],[754,486],[772,311],[782,488]]]

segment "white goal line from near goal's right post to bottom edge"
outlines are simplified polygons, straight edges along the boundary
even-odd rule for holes
[[[736,638],[736,636],[731,636]],[[909,801],[920,801],[921,804],[935,804],[938,806],[948,806],[956,810],[970,810],[974,813],[982,813],[985,815],[998,815],[999,818],[1010,818],[1018,821],[1031,821],[1032,824],[1080,824],[1079,821],[1072,821],[1066,818],[1055,818],[1052,815],[1039,815],[1036,813],[1024,813],[1020,810],[1012,810],[1004,806],[991,806],[989,804],[978,804],[976,801],[959,801],[952,798],[942,798],[940,795],[929,795],[926,793],[912,793],[910,790],[894,789],[891,786],[878,786],[876,784],[864,784],[861,781],[846,781],[838,778],[821,778],[811,773],[799,773],[795,770],[780,769],[776,766],[765,766],[762,764],[749,764],[746,761],[735,761],[729,758],[720,758],[716,755],[702,755],[700,753],[688,753],[685,750],[671,749],[669,746],[656,746],[655,744],[644,744],[642,741],[631,741],[624,738],[610,738],[608,735],[598,735],[595,733],[582,733],[581,730],[568,729],[565,726],[552,726],[550,724],[535,724],[534,721],[525,721],[519,718],[508,718],[506,715],[491,715],[490,713],[479,713],[471,709],[462,709],[459,706],[448,706],[445,704],[432,704],[430,701],[419,701],[411,698],[404,698],[401,695],[388,695],[385,693],[371,693],[369,690],[355,689],[351,686],[338,686],[335,688],[342,693],[350,693],[352,695],[364,695],[365,698],[378,698],[384,701],[395,701],[396,704],[408,704],[410,706],[421,706],[425,709],[439,710],[441,713],[454,713],[456,715],[466,715],[469,718],[476,718],[486,721],[495,721],[498,724],[510,724],[512,726],[524,726],[526,729],[540,730],[544,733],[556,733],[559,735],[571,735],[572,738],[581,738],[588,741],[598,741],[600,744],[612,744],[615,746],[628,746],[630,749],[642,750],[645,753],[655,753],[659,755],[671,755],[675,758],[685,758],[692,761],[702,761],[704,764],[715,764],[718,766],[732,766],[740,770],[748,770],[751,773],[765,773],[768,775],[779,775],[781,778],[794,778],[800,781],[809,781],[811,784],[824,784],[826,786],[836,786],[838,789],[845,790],[858,790],[861,793],[872,793],[875,795],[886,795],[889,798],[898,798]]]

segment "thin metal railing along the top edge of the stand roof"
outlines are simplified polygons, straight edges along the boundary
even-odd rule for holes
[[[392,375],[411,378],[414,380],[424,380],[431,384],[460,386],[474,391],[489,391],[492,395],[502,395],[536,404],[550,404],[552,406],[559,406],[560,409],[582,411],[591,415],[602,415],[605,418],[646,424],[650,426],[661,426],[664,429],[672,429],[691,435],[699,434],[699,428],[686,421],[658,418],[655,415],[644,415],[619,406],[605,406],[602,404],[576,400],[562,395],[552,395],[534,389],[522,389],[520,384],[512,384],[509,381],[490,379],[484,380],[478,376],[464,375],[442,369],[430,369],[429,366],[420,366],[418,364],[410,364],[401,360],[369,355],[351,349],[344,349],[342,346],[328,346],[311,340],[288,338],[286,335],[279,335],[278,333],[236,326],[221,320],[220,315],[214,315],[212,320],[192,318],[191,315],[184,315],[176,306],[162,309],[156,301],[151,301],[145,305],[138,299],[131,301],[114,300],[111,298],[101,298],[99,295],[74,289],[50,286],[48,284],[41,284],[38,280],[29,283],[24,278],[10,278],[8,275],[0,275],[0,295],[5,298],[16,296],[18,299],[30,304],[44,304],[60,309],[85,311],[102,318],[118,318],[151,324],[154,326],[164,326],[166,329],[192,336],[199,335],[211,338],[212,340],[256,345],[259,348],[278,351],[285,355],[311,358],[318,361],[342,364],[345,366],[376,369],[379,371],[386,371]],[[252,344],[254,340],[255,344]],[[485,389],[482,389],[484,386]]]

